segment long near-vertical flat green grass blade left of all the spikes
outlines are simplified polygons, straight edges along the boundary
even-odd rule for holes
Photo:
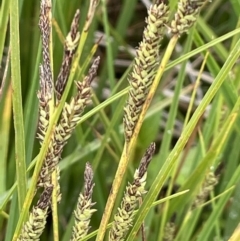
[[[10,46],[11,46],[11,73],[13,91],[13,117],[15,129],[16,172],[18,183],[18,204],[22,209],[27,193],[25,138],[22,110],[22,91],[20,73],[19,49],[19,9],[18,1],[10,1]]]

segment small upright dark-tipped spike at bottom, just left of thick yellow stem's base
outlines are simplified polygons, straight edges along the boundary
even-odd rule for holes
[[[93,183],[93,170],[89,163],[86,163],[84,181],[84,193],[80,193],[77,208],[74,211],[75,223],[71,241],[78,241],[87,235],[90,229],[91,216],[96,211],[92,209],[92,206],[95,204],[92,202],[93,187],[95,184]]]

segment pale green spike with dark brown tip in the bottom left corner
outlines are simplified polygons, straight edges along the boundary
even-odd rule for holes
[[[33,207],[28,221],[24,224],[18,241],[40,240],[40,236],[45,228],[48,208],[51,203],[52,187],[47,187],[40,196],[37,205]]]

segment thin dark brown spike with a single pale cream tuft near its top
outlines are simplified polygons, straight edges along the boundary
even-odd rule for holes
[[[65,40],[64,57],[62,61],[62,66],[60,68],[60,71],[57,77],[56,85],[55,85],[56,97],[58,100],[61,99],[62,93],[65,89],[66,82],[70,73],[73,56],[74,56],[74,53],[76,52],[78,42],[80,39],[80,34],[78,32],[79,18],[80,18],[80,11],[77,10],[71,24],[70,32],[68,33]]]

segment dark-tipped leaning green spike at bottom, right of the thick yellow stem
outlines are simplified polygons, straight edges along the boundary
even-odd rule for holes
[[[114,216],[113,225],[109,232],[109,241],[122,241],[132,225],[134,210],[138,206],[139,198],[145,193],[147,167],[155,151],[155,144],[151,143],[143,156],[139,168],[135,171],[134,181],[126,187],[118,213]]]

